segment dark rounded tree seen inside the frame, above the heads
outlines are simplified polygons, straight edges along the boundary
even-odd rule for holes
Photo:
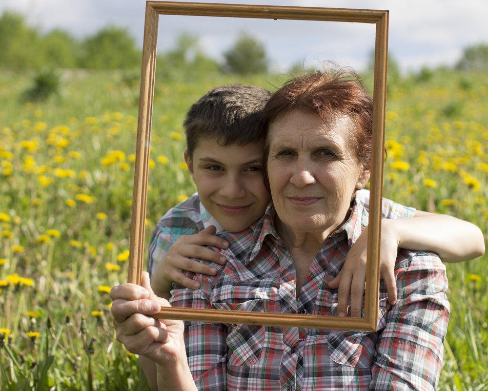
[[[241,75],[262,73],[268,69],[264,44],[242,33],[234,46],[224,52],[225,69]]]

